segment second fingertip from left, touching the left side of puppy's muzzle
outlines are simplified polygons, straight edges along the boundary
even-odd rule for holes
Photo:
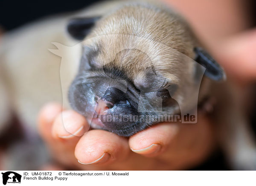
[[[72,139],[82,136],[89,128],[84,116],[73,110],[65,110],[56,117],[52,126],[52,136],[57,139]]]

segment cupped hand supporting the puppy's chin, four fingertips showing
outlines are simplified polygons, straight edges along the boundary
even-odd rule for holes
[[[42,108],[41,136],[54,159],[80,170],[180,170],[204,161],[215,140],[211,122],[198,113],[197,124],[163,122],[129,138],[89,130],[86,119],[57,103]]]

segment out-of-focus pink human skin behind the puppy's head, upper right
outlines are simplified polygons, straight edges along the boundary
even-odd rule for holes
[[[256,78],[256,29],[248,30],[252,24],[249,4],[240,0],[163,1],[188,20],[228,76],[242,83]]]

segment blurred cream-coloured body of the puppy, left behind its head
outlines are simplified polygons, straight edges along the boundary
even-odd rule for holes
[[[72,15],[60,15],[31,23],[4,35],[0,40],[1,89],[7,90],[8,102],[18,117],[30,128],[36,128],[38,111],[47,102],[62,102],[59,69],[61,58],[49,52],[52,42],[73,46],[78,41],[70,38],[66,31],[68,20],[73,16],[98,16],[109,12],[117,1],[105,2],[88,7]],[[72,51],[73,52],[73,51]],[[67,53],[70,61],[80,60],[79,54]],[[74,59],[74,57],[76,59]],[[75,63],[74,62],[74,63]],[[76,65],[72,69],[77,69]],[[68,70],[68,69],[67,69]],[[75,72],[74,72],[75,73]],[[73,75],[75,76],[75,75]],[[70,81],[72,81],[71,76]],[[8,88],[2,88],[8,86]],[[64,96],[67,98],[67,96]],[[7,99],[3,99],[7,101]],[[6,110],[7,103],[0,104]],[[65,105],[69,107],[69,105]],[[7,116],[7,111],[0,112],[0,118]],[[3,116],[2,116],[3,114]],[[7,120],[7,119],[5,119]],[[0,125],[6,121],[0,120]]]

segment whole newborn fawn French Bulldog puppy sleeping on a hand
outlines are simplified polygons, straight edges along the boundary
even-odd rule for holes
[[[214,97],[219,101],[216,128],[230,163],[234,169],[255,169],[255,145],[233,87],[213,82],[224,80],[224,71],[180,15],[144,1],[106,3],[90,10],[91,14],[82,11],[53,19],[4,38],[3,76],[23,122],[35,125],[41,105],[62,101],[85,116],[92,128],[128,137],[162,121],[159,116],[196,123],[198,103],[205,105]],[[63,33],[67,20],[67,31],[81,42],[60,52],[58,42],[76,43]],[[61,64],[47,51],[52,42],[59,49],[50,51],[62,57]],[[229,93],[230,101],[222,102]]]

